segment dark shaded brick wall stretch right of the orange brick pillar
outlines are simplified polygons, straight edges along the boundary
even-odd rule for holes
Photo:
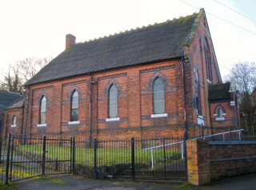
[[[256,172],[255,141],[210,141],[210,180]]]

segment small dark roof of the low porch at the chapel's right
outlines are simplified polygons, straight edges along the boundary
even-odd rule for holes
[[[210,101],[230,99],[230,83],[210,85],[209,99]]]

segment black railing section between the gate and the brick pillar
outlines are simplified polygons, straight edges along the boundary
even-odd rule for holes
[[[74,173],[101,179],[186,179],[183,137],[93,142],[77,137],[75,144]]]

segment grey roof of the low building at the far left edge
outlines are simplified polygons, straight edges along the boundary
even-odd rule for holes
[[[19,93],[0,90],[0,110],[3,111],[7,106],[11,105],[21,97],[22,96]]]

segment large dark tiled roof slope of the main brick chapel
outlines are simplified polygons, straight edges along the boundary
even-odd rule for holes
[[[184,18],[77,43],[50,61],[26,85],[181,57],[203,13],[202,9]]]

